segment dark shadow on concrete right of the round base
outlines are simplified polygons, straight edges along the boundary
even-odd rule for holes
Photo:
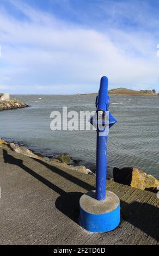
[[[136,201],[128,204],[120,200],[120,203],[123,220],[159,241],[159,208],[157,206]]]

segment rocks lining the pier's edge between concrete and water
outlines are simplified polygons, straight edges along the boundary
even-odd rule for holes
[[[4,149],[11,149],[18,154],[22,154],[34,159],[39,159],[41,161],[50,162],[54,167],[62,167],[66,170],[72,170],[80,173],[95,175],[90,169],[83,165],[74,166],[72,165],[72,160],[70,155],[63,154],[58,155],[55,159],[50,159],[46,156],[35,154],[32,150],[21,147],[15,143],[9,143],[0,138],[0,147]],[[74,160],[73,160],[74,161]],[[79,162],[78,162],[79,163]],[[147,190],[154,193],[159,191],[159,181],[152,175],[146,174],[143,170],[137,169],[135,167],[126,167],[123,169],[114,168],[113,169],[113,179],[119,184],[128,185],[139,190]]]

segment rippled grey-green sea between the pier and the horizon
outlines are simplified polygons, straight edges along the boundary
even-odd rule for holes
[[[0,137],[45,155],[68,153],[82,163],[96,161],[95,131],[51,131],[50,114],[95,110],[92,95],[11,95],[30,107],[0,112]],[[118,123],[109,131],[108,175],[113,167],[135,166],[159,179],[159,96],[111,96]]]

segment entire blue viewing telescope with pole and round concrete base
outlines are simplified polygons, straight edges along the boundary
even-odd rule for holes
[[[111,231],[120,223],[120,200],[113,192],[106,191],[108,132],[117,123],[108,108],[108,78],[103,76],[96,97],[96,114],[90,119],[97,132],[96,190],[83,194],[79,200],[79,223],[94,233]]]

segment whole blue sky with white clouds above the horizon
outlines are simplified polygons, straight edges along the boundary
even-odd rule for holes
[[[0,0],[0,92],[159,92],[159,0]]]

